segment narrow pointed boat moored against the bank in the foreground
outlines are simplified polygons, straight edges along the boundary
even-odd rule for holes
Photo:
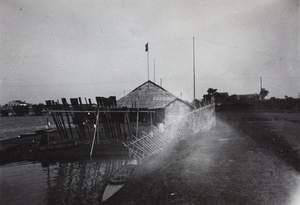
[[[135,170],[136,165],[137,161],[133,160],[112,174],[103,192],[102,202],[109,199],[125,185],[126,181]]]

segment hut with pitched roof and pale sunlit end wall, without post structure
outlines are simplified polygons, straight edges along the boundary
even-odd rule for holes
[[[126,96],[117,100],[119,108],[139,108],[154,112],[154,122],[171,122],[194,109],[194,107],[152,81],[147,81]],[[147,122],[149,116],[142,116]],[[147,120],[148,119],[148,120]],[[143,121],[142,121],[143,122]]]

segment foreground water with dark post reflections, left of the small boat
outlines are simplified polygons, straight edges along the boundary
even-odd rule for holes
[[[98,204],[105,179],[128,158],[0,166],[1,204]]]

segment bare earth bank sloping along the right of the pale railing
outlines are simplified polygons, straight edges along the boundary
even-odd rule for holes
[[[299,204],[298,133],[282,118],[219,115],[216,128],[142,161],[105,204]]]

